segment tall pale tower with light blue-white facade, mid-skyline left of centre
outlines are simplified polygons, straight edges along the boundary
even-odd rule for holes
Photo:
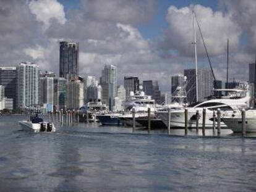
[[[113,111],[114,98],[117,93],[117,68],[114,65],[105,65],[101,72],[100,85],[102,87],[102,101]]]

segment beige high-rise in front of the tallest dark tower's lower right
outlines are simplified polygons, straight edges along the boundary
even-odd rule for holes
[[[80,80],[67,82],[67,109],[79,109],[83,106],[83,83]]]

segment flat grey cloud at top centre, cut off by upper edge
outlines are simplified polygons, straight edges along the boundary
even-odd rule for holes
[[[88,17],[104,22],[139,23],[155,15],[155,0],[84,0]]]

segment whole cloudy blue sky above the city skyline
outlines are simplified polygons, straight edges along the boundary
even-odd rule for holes
[[[255,0],[1,0],[0,65],[22,61],[59,74],[59,41],[79,42],[80,75],[101,75],[105,64],[124,76],[158,80],[194,68],[193,18],[197,14],[215,76],[248,80],[256,54]],[[197,30],[198,68],[210,69]]]

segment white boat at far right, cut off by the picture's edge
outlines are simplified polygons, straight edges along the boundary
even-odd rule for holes
[[[241,111],[234,111],[233,114],[223,114],[223,122],[234,133],[242,132],[242,114]],[[247,133],[256,133],[256,110],[249,109],[245,111],[245,130]]]

